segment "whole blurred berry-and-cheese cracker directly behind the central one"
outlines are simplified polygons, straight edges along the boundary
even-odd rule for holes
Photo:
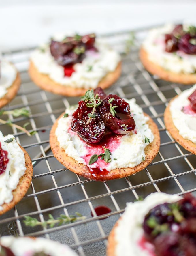
[[[65,96],[107,88],[120,76],[120,55],[95,34],[58,35],[32,55],[29,74],[36,85]]]

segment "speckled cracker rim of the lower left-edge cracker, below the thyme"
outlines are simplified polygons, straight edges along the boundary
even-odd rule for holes
[[[31,185],[33,175],[33,165],[31,162],[31,158],[23,147],[20,146],[20,148],[24,152],[26,171],[24,175],[20,177],[16,189],[12,191],[12,201],[10,203],[4,203],[1,205],[1,207],[3,207],[3,210],[0,211],[0,215],[11,210],[24,197],[24,195],[27,193],[27,190],[29,189],[29,186]]]

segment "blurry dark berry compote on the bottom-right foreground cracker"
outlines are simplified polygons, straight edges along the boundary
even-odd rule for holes
[[[187,194],[176,203],[155,206],[145,216],[143,229],[157,256],[196,255],[196,198]]]

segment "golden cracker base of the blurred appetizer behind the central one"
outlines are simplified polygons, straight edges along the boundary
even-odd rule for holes
[[[101,87],[105,89],[112,85],[121,74],[121,62],[118,63],[116,70],[114,72],[109,72],[97,85],[97,87]],[[50,91],[54,94],[60,94],[63,96],[83,96],[87,89],[84,88],[73,88],[71,86],[64,86],[59,83],[56,83],[52,80],[48,75],[40,73],[33,62],[30,62],[29,66],[29,76],[33,80],[33,82],[41,87],[43,90]],[[89,88],[92,89],[92,88]]]

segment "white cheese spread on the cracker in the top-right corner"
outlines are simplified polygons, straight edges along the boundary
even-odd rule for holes
[[[174,25],[165,25],[161,28],[150,30],[146,40],[143,42],[143,48],[148,53],[148,59],[166,70],[175,73],[195,73],[196,55],[189,55],[182,51],[167,53],[165,51],[165,34],[171,33]],[[187,25],[183,26],[186,29]]]

